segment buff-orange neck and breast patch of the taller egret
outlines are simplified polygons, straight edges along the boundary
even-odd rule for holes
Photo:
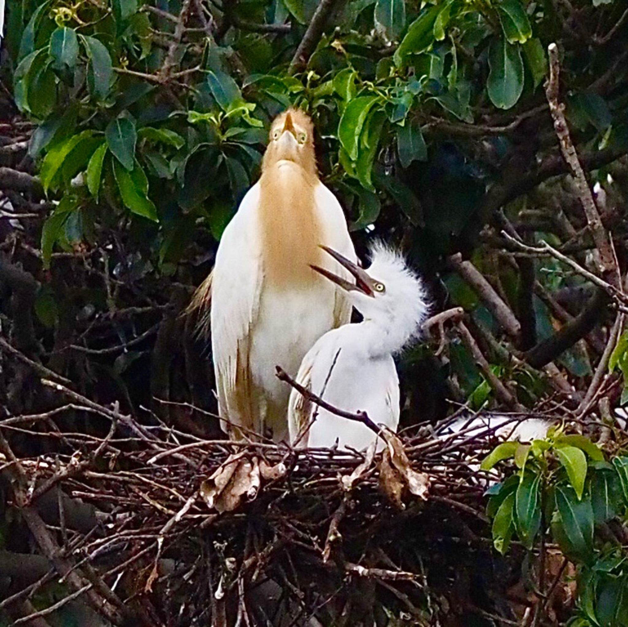
[[[258,218],[267,285],[295,289],[320,281],[310,264],[320,265],[325,241],[317,219],[316,176],[293,161],[264,164]]]

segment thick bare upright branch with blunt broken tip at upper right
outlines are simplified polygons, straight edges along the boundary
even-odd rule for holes
[[[587,216],[587,223],[591,231],[593,241],[599,253],[598,268],[602,277],[615,288],[620,285],[619,268],[615,265],[614,255],[609,233],[602,224],[600,213],[595,205],[591,188],[587,177],[578,159],[578,154],[571,141],[569,127],[565,118],[565,105],[559,101],[559,74],[560,60],[558,58],[558,46],[551,43],[548,46],[549,53],[549,79],[545,86],[545,93],[549,103],[549,111],[554,120],[554,129],[560,144],[560,150],[573,175],[578,198]]]

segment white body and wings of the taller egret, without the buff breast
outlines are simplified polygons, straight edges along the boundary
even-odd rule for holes
[[[273,176],[290,178],[298,174],[298,168],[294,162],[279,161]],[[313,193],[314,219],[320,227],[317,243],[355,259],[337,199],[320,181]],[[260,224],[260,195],[257,182],[220,240],[212,282],[212,354],[220,416],[281,441],[288,436],[290,388],[277,379],[275,366],[294,376],[316,340],[349,321],[351,307],[340,288],[308,266],[306,281],[277,282],[268,277],[264,258],[269,244]],[[299,246],[298,237],[295,233],[286,242],[288,263],[290,246]],[[333,260],[327,267],[344,272]],[[222,426],[228,430],[225,421]]]

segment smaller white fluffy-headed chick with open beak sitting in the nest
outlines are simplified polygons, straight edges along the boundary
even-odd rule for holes
[[[349,282],[328,270],[315,270],[347,290],[362,314],[321,337],[303,358],[296,381],[335,408],[365,411],[371,421],[396,430],[399,424],[399,379],[393,354],[418,335],[428,314],[425,290],[401,255],[378,243],[371,266],[362,270],[331,248],[325,250],[355,278]],[[295,446],[333,446],[362,450],[376,434],[364,424],[317,407],[293,389],[288,411]],[[379,442],[379,447],[383,442]]]

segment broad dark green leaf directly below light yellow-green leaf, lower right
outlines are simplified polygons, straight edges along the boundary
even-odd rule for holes
[[[571,488],[558,485],[556,507],[563,531],[558,541],[563,550],[587,561],[593,551],[593,508],[590,500],[580,500]]]

